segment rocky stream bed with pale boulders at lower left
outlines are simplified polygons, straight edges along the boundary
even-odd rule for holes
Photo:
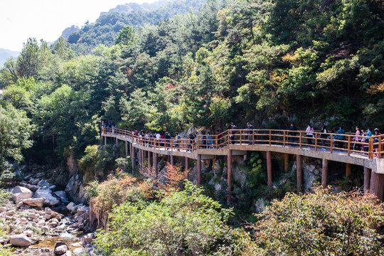
[[[68,193],[48,182],[46,174],[22,175],[9,183],[6,191],[12,198],[0,207],[0,251],[9,247],[14,255],[94,255],[89,206],[69,201]],[[73,180],[68,184],[73,186]]]

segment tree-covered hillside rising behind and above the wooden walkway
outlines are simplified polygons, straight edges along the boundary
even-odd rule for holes
[[[1,107],[26,112],[34,146],[60,157],[97,144],[100,119],[171,135],[230,121],[383,129],[383,8],[375,0],[208,0],[198,14],[144,27],[102,16],[77,40],[28,40],[1,70]],[[112,17],[119,35],[108,46]],[[77,55],[73,43],[93,46],[93,33],[107,46]]]

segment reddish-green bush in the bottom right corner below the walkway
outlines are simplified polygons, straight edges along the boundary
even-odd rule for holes
[[[384,205],[359,191],[334,193],[320,186],[314,193],[287,193],[257,215],[251,225],[257,255],[383,255],[383,235],[374,229],[384,220]]]

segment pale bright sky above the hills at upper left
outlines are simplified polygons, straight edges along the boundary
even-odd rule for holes
[[[156,0],[0,0],[0,48],[21,51],[28,38],[53,42],[65,28],[81,27],[119,4]]]

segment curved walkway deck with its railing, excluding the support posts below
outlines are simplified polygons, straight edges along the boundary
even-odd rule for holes
[[[356,164],[384,174],[384,136],[363,137],[354,134],[323,134],[308,137],[303,131],[279,129],[230,129],[216,135],[199,134],[194,139],[156,139],[134,135],[134,131],[102,127],[102,137],[127,141],[137,149],[190,159],[244,155],[247,151],[272,151],[309,156],[316,159]]]

